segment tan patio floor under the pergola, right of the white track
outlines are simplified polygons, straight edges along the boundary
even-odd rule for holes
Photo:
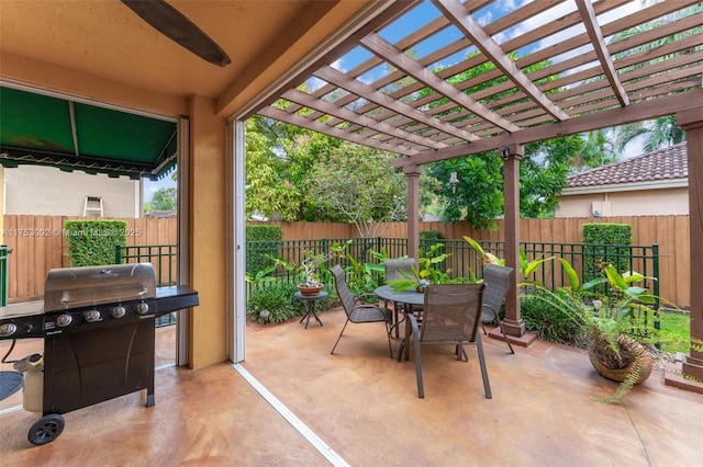
[[[382,324],[252,324],[243,364],[352,465],[702,465],[703,397],[663,386],[662,371],[623,405],[591,400],[616,387],[585,352],[538,342],[511,355],[484,339],[493,399],[475,348],[423,348],[425,399],[414,364],[388,357]],[[397,352],[399,342],[393,343]],[[412,355],[412,353],[411,353]]]

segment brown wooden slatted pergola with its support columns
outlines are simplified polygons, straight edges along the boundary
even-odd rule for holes
[[[691,8],[696,1],[637,11],[627,0],[540,0],[510,11],[496,3],[395,2],[250,114],[398,153],[393,163],[408,176],[411,255],[422,164],[495,150],[504,161],[505,263],[515,275],[505,327],[528,340],[514,285],[522,145],[676,114],[689,132],[695,216],[703,11]],[[692,230],[692,239],[699,234]],[[692,300],[694,310],[701,306]],[[700,338],[695,316],[692,334]],[[692,351],[687,366],[699,377],[700,356]]]

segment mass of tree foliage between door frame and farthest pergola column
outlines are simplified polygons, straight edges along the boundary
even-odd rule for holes
[[[362,237],[378,235],[371,220],[405,218],[395,155],[259,116],[246,125],[247,216],[352,221]]]

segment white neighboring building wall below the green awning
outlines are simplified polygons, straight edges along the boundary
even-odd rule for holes
[[[63,172],[53,167],[25,164],[0,168],[2,173],[3,214],[91,217],[102,214],[102,217],[119,218],[137,218],[142,214],[143,182],[127,176]]]

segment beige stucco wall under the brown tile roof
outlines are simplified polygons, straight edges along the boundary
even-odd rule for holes
[[[687,187],[636,192],[591,193],[559,197],[555,217],[590,217],[592,203],[610,202],[610,213],[603,216],[661,216],[689,214]]]

